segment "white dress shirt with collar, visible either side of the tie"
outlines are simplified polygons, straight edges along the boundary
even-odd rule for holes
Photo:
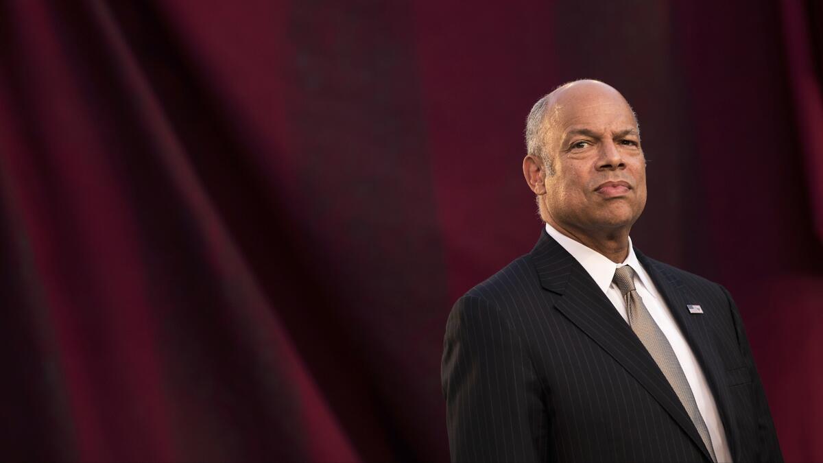
[[[720,414],[718,414],[717,404],[714,402],[712,391],[709,390],[709,384],[706,382],[706,377],[700,369],[700,364],[695,358],[695,354],[691,352],[686,338],[681,333],[680,327],[677,326],[672,317],[672,312],[666,306],[663,297],[660,296],[657,288],[654,288],[652,279],[646,273],[646,269],[640,265],[635,255],[635,248],[631,245],[631,238],[629,238],[629,255],[625,258],[622,264],[615,264],[609,260],[605,255],[600,254],[578,241],[574,241],[569,236],[565,236],[558,232],[554,227],[546,223],[546,232],[557,241],[563,249],[569,251],[569,254],[577,260],[580,265],[592,276],[594,283],[602,290],[609,298],[609,301],[615,306],[617,312],[629,322],[629,316],[625,305],[625,300],[620,292],[620,288],[611,280],[614,278],[615,270],[623,265],[630,265],[635,270],[635,288],[640,298],[643,299],[643,304],[649,311],[654,321],[666,335],[669,344],[672,344],[672,349],[677,356],[677,361],[680,362],[683,372],[686,374],[686,380],[689,381],[691,393],[695,395],[695,402],[697,408],[700,409],[700,414],[709,428],[709,436],[712,438],[712,447],[714,447],[714,456],[717,457],[718,462],[732,461],[732,456],[728,451],[728,443],[726,442],[726,432],[723,429],[723,423],[720,421]]]

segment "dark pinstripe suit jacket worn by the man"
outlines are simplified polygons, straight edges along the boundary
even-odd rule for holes
[[[635,253],[700,362],[732,459],[782,461],[732,297]],[[643,344],[546,232],[454,305],[441,375],[453,461],[711,461]]]

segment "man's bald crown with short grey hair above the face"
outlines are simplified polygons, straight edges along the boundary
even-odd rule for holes
[[[616,109],[629,110],[635,119],[635,129],[639,132],[635,111],[614,87],[591,79],[567,82],[543,96],[528,113],[526,119],[527,154],[541,159],[551,167],[551,150],[546,149],[546,145],[560,136],[560,133],[557,133],[559,121],[565,115],[569,115],[570,111],[602,105],[604,102],[615,105]],[[551,174],[551,170],[549,173]]]

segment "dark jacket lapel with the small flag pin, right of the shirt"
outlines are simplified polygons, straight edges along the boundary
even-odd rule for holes
[[[732,460],[737,461],[737,449],[740,447],[737,442],[737,435],[730,426],[732,421],[730,420],[731,415],[728,404],[731,403],[731,398],[728,396],[728,388],[723,381],[725,372],[723,365],[720,363],[720,357],[712,350],[714,342],[711,336],[711,326],[709,326],[709,316],[707,314],[691,314],[686,305],[700,305],[704,307],[704,311],[711,311],[713,307],[706,306],[705,303],[701,304],[699,299],[687,292],[677,275],[672,274],[662,265],[658,265],[654,260],[650,260],[636,248],[635,254],[640,264],[643,264],[649,277],[652,278],[654,286],[666,301],[669,311],[672,312],[672,316],[674,316],[677,325],[680,327],[681,333],[686,337],[686,342],[689,343],[691,351],[695,353],[697,362],[700,363],[700,369],[703,371],[706,381],[709,383],[709,389],[714,396],[720,419],[723,420],[723,428],[726,431],[726,441],[732,454]]]

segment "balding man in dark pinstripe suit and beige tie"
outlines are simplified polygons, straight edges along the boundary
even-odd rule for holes
[[[449,316],[452,460],[782,461],[732,297],[632,247],[646,162],[623,96],[559,87],[526,141],[546,226]]]

